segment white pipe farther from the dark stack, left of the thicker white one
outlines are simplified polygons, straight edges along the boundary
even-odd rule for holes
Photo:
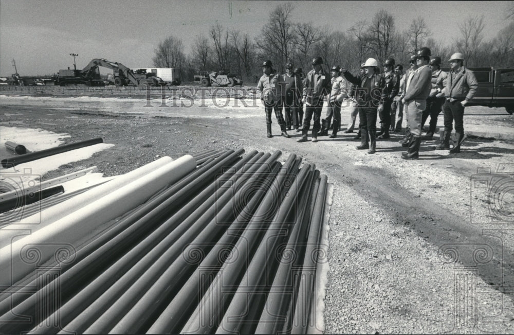
[[[173,160],[171,157],[164,156],[156,161],[153,161],[152,163],[143,165],[140,168],[132,170],[126,174],[120,175],[119,177],[105,184],[90,189],[82,193],[81,195],[68,199],[59,204],[59,206],[49,207],[47,209],[40,211],[39,213],[28,216],[26,218],[24,217],[23,219],[23,215],[20,215],[23,214],[23,207],[6,213],[6,216],[0,217],[0,222],[10,222],[10,224],[2,228],[2,230],[0,230],[0,248],[3,248],[4,246],[13,242],[13,234],[20,235],[19,231],[21,230],[24,230],[25,232],[21,235],[27,235],[31,232],[38,231],[41,228],[46,227],[50,223],[55,222],[69,215],[73,211],[78,210],[95,200],[98,200],[99,198],[107,195],[108,193],[111,193],[125,186],[126,184],[133,182],[146,174],[151,173],[155,169],[160,168],[166,164],[169,164],[172,161]],[[12,231],[12,233],[6,234],[3,232],[5,230],[10,230]]]

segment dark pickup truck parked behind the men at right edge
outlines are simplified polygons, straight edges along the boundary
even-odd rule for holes
[[[514,113],[514,68],[469,67],[479,89],[467,106],[505,107]],[[448,72],[448,68],[444,68]]]

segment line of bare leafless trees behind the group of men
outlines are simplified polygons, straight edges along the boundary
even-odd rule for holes
[[[209,31],[195,37],[187,55],[182,40],[169,36],[155,49],[153,64],[179,68],[182,81],[192,81],[200,70],[230,70],[249,84],[262,75],[260,65],[266,59],[280,72],[284,72],[287,62],[306,72],[316,56],[323,57],[328,68],[340,65],[355,71],[369,57],[381,63],[393,57],[397,64],[405,66],[410,56],[423,46],[428,46],[432,56],[441,57],[443,62],[453,52],[462,52],[467,67],[514,64],[514,7],[506,15],[511,22],[492,40],[484,39],[484,17],[470,15],[458,24],[459,31],[448,44],[432,38],[421,16],[413,19],[408,29],[399,31],[394,16],[380,10],[371,21],[358,21],[347,31],[339,31],[313,22],[293,22],[294,10],[292,3],[278,5],[254,39],[216,22]]]

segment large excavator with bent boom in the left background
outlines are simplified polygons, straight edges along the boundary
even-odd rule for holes
[[[116,86],[134,85],[139,87],[165,86],[167,83],[154,74],[134,73],[134,71],[118,62],[111,62],[106,59],[95,58],[89,62],[82,70],[59,70],[58,81],[56,84],[61,86],[82,84],[86,86],[103,86],[104,82],[100,78],[99,66],[113,70],[114,84]],[[68,72],[70,73],[68,75]],[[65,74],[64,76],[61,73]],[[67,75],[67,76],[66,76]]]

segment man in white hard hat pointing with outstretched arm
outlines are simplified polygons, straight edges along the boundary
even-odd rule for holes
[[[355,98],[359,108],[361,132],[361,144],[357,149],[369,149],[368,153],[375,153],[378,105],[382,102],[382,91],[386,87],[386,81],[378,73],[378,62],[374,58],[366,60],[364,74],[360,77],[352,75],[346,69],[343,69],[342,73],[346,80],[356,85]]]

